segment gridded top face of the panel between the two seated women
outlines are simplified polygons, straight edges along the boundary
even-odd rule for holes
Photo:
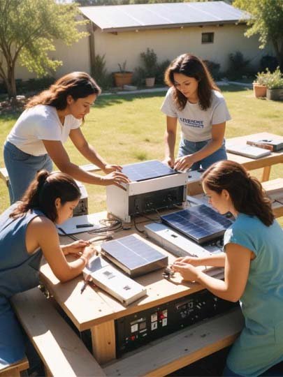
[[[133,235],[103,242],[101,248],[129,269],[164,260],[166,256]],[[107,256],[106,254],[106,256]]]

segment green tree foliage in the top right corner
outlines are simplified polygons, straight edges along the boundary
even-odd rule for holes
[[[260,48],[271,41],[283,69],[283,0],[235,0],[233,6],[252,15],[245,36],[259,34]]]

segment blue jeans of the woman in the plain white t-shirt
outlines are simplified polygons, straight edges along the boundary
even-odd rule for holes
[[[52,172],[53,168],[48,154],[32,156],[8,141],[4,144],[4,161],[9,176],[8,189],[11,205],[22,198],[39,170],[45,169]]]

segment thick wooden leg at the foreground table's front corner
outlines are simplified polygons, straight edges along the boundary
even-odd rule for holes
[[[99,364],[116,358],[115,325],[114,320],[101,323],[91,328],[92,353]]]

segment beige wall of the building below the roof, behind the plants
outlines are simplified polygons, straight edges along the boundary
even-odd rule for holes
[[[201,44],[201,33],[204,32],[215,33],[214,43]],[[140,52],[145,51],[147,47],[154,49],[159,61],[173,59],[183,52],[191,52],[203,59],[220,63],[221,71],[225,71],[230,52],[241,51],[253,64],[257,64],[263,54],[273,54],[271,47],[259,50],[258,39],[246,38],[244,32],[245,25],[126,31],[117,35],[102,33],[98,29],[94,32],[94,50],[95,54],[106,54],[108,72],[118,71],[118,63],[122,64],[125,60],[126,69],[133,70],[140,65]],[[80,39],[70,47],[57,40],[55,47],[56,51],[50,52],[50,57],[63,61],[55,77],[71,71],[90,72],[88,37]],[[36,75],[17,65],[16,78],[28,80],[31,77]]]

